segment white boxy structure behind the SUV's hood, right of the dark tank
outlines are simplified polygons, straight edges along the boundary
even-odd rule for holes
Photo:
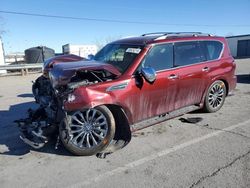
[[[97,53],[96,45],[75,45],[65,44],[62,46],[63,54],[74,54],[81,57],[88,58],[88,55],[95,55]]]

